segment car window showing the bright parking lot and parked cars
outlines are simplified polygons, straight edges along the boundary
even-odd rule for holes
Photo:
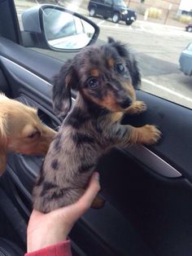
[[[156,2],[129,0],[126,3],[122,0],[115,1],[118,5],[129,7],[129,11],[124,9],[120,13],[109,14],[104,11],[98,14],[95,7],[91,6],[92,1],[89,0],[82,0],[78,4],[70,0],[68,2],[15,0],[15,7],[21,30],[24,29],[22,13],[42,2],[66,7],[85,15],[100,28],[96,44],[107,42],[107,38],[112,37],[133,49],[142,73],[141,90],[192,108],[192,46],[190,44],[192,42],[190,11],[192,2],[184,0]],[[182,10],[183,8],[185,10]],[[84,30],[84,24],[78,22],[76,24],[76,20],[72,17],[66,15],[64,20],[62,28],[57,28],[58,38],[61,35],[67,37],[73,33],[82,33]],[[47,37],[50,39],[55,35],[54,29],[50,24],[50,31],[47,31]],[[53,43],[59,46],[55,40]],[[74,38],[70,38],[66,45],[71,46],[72,40]],[[36,47],[32,50],[51,55],[59,60],[66,60],[66,54],[56,49],[51,51]]]

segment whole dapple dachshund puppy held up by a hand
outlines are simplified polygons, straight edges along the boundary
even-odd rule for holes
[[[63,116],[76,103],[50,144],[41,174],[33,189],[33,207],[48,213],[77,201],[85,191],[98,159],[110,148],[133,143],[156,143],[155,126],[122,126],[124,113],[141,113],[146,104],[137,101],[134,87],[141,82],[137,61],[120,42],[108,39],[103,46],[87,46],[68,60],[55,77],[53,100]],[[103,205],[95,198],[93,207]]]

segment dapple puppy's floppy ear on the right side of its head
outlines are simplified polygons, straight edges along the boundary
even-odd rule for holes
[[[123,43],[115,41],[113,38],[108,38],[108,43],[115,47],[119,55],[124,58],[132,78],[132,85],[135,89],[139,89],[141,85],[141,73],[133,52],[129,51]]]

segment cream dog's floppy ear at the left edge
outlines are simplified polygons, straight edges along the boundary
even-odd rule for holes
[[[7,126],[4,117],[0,117],[0,176],[6,170]]]

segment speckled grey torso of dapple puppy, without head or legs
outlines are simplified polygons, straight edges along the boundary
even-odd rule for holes
[[[99,157],[116,145],[121,116],[73,108],[50,144],[33,190],[35,209],[49,212],[79,199]]]

